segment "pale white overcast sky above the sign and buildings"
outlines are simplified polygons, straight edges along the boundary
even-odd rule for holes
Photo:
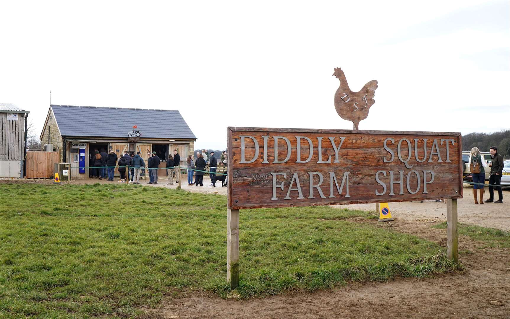
[[[224,149],[226,126],[351,129],[333,104],[334,67],[353,91],[378,81],[360,129],[510,127],[508,1],[10,1],[0,10],[0,102],[31,111],[38,133],[49,90],[54,104],[179,110],[195,148]]]

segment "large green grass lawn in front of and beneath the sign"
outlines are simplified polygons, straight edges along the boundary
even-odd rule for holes
[[[0,317],[136,316],[179,289],[230,293],[226,197],[139,185],[0,184]],[[322,207],[240,214],[248,298],[452,271],[439,245]]]

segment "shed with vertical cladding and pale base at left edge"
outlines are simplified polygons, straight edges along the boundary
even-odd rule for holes
[[[23,177],[30,112],[0,103],[0,177]]]

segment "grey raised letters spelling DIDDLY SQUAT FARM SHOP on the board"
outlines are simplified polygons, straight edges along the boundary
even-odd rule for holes
[[[257,139],[253,136],[247,136],[247,135],[241,135],[239,137],[241,138],[241,161],[239,162],[239,164],[249,164],[249,163],[253,163],[253,162],[257,161],[257,159],[259,158],[259,154],[260,154],[260,151],[259,151],[260,147],[259,147],[259,142],[257,141]],[[263,157],[262,157],[262,162],[261,162],[262,164],[283,164],[283,163],[287,163],[289,161],[291,154],[292,154],[292,147],[291,147],[291,142],[287,137],[284,137],[284,136],[272,136],[272,137],[271,136],[262,136],[262,138],[264,140],[264,142],[263,142],[263,148],[264,148],[263,149]],[[252,147],[254,145],[253,158],[248,159],[248,160],[246,159],[246,153],[245,153],[246,139],[249,139],[253,142],[253,144],[248,142],[250,144],[249,145],[250,147]],[[268,148],[268,140],[269,139],[273,139],[273,141],[274,141],[274,160],[272,162],[268,161],[267,148]],[[296,136],[295,139],[296,139],[296,143],[297,143],[297,147],[296,147],[297,154],[296,154],[295,163],[310,162],[312,160],[312,158],[314,158],[314,147],[313,147],[312,140],[305,136]],[[342,147],[342,144],[346,138],[345,137],[327,137],[327,139],[326,139],[325,137],[317,137],[316,139],[317,139],[317,157],[314,158],[314,161],[317,160],[316,163],[318,163],[318,164],[340,163],[339,151],[340,151],[340,148]],[[335,151],[334,159],[332,158],[331,155],[328,155],[327,158],[323,158],[323,154],[322,154],[323,139],[326,143],[328,143],[327,141],[329,141],[329,143],[331,144],[331,147]],[[335,140],[338,141],[338,145],[335,143]],[[432,142],[432,145],[430,147],[430,153],[427,153],[428,139],[421,139],[421,140],[423,141],[423,158],[419,158],[419,156],[418,156],[418,142],[420,141],[420,139],[413,139],[413,142],[414,142],[413,143],[412,141],[404,138],[404,139],[400,139],[400,141],[398,141],[398,143],[397,143],[397,158],[400,162],[402,162],[405,165],[405,167],[407,169],[413,168],[413,165],[409,164],[409,161],[411,160],[411,158],[413,156],[412,155],[413,149],[414,149],[415,159],[419,163],[423,163],[425,161],[427,161],[427,163],[443,162],[443,158],[441,157],[441,153],[440,153],[440,148],[443,148],[446,150],[446,158],[444,159],[444,162],[451,162],[449,147],[450,147],[450,143],[452,146],[455,144],[453,139],[440,139],[439,142],[438,142],[438,139],[434,139]],[[287,145],[287,156],[281,160],[278,159],[278,142],[279,141],[284,141]],[[309,149],[309,155],[308,155],[308,158],[306,158],[306,159],[301,158],[301,143],[302,143],[302,141],[307,141],[309,144],[309,147],[307,148],[307,149]],[[384,163],[391,163],[395,159],[395,152],[390,148],[389,144],[391,144],[394,147],[395,139],[387,138],[384,140],[383,146],[384,146],[384,149],[388,152],[386,154],[386,156],[384,156],[382,158],[382,161]],[[413,144],[414,144],[414,148],[413,148]],[[407,157],[406,158],[404,158],[402,156],[402,152],[401,152],[402,148],[405,148],[405,147],[407,147]],[[433,156],[433,155],[436,155],[436,156]],[[355,155],[353,155],[353,156],[355,156]],[[344,172],[344,174],[342,176],[342,181],[340,182],[340,186],[339,186],[335,172],[328,172],[328,174],[329,174],[329,196],[328,196],[328,198],[336,197],[335,193],[334,193],[335,189],[339,196],[350,197],[350,195],[349,195],[349,173],[350,173],[349,171]],[[407,172],[407,174],[405,174],[404,170],[399,170],[396,174],[395,173],[396,173],[396,171],[384,171],[384,170],[380,170],[375,173],[375,176],[374,176],[375,180],[382,187],[382,189],[379,189],[379,190],[376,189],[374,191],[375,195],[382,196],[388,192],[387,184],[385,184],[384,182],[382,182],[380,180],[381,175],[382,176],[389,175],[389,177],[390,177],[389,194],[388,195],[395,195],[394,184],[400,184],[400,192],[398,193],[398,195],[404,195],[404,187],[403,187],[404,180],[406,183],[406,190],[409,194],[416,194],[420,190],[422,191],[422,194],[428,194],[427,184],[432,183],[434,181],[434,177],[435,177],[435,173],[432,170],[411,170],[411,171]],[[289,177],[290,177],[290,174],[292,174],[292,173],[289,173]],[[322,185],[322,182],[324,180],[323,174],[320,172],[308,172],[308,174],[309,174],[309,196],[308,196],[308,198],[315,198],[314,190],[317,191],[318,195],[321,198],[326,198],[326,196],[322,192],[322,189],[320,188],[320,186]],[[277,183],[277,176],[279,176],[279,175],[281,175],[283,178],[287,179],[287,173],[279,173],[279,172],[271,173],[271,176],[272,176],[272,197],[271,197],[271,200],[279,199],[276,196],[277,188],[281,189],[282,191],[284,191],[284,189],[285,189],[285,185],[284,185],[283,181],[279,184]],[[394,180],[395,175],[399,175],[399,180]],[[405,175],[406,175],[406,178],[404,179]],[[410,184],[410,180],[411,180],[411,177],[413,177],[413,175],[416,176],[416,185]],[[319,179],[317,184],[314,184],[314,176],[317,176]],[[423,184],[422,184],[422,180],[423,180]],[[345,185],[345,195],[342,195],[344,185]],[[421,185],[423,185],[423,188],[421,187]],[[304,199],[303,192],[301,189],[301,181],[299,180],[297,172],[292,174],[291,181],[288,185],[287,196],[284,199],[291,199],[292,191],[297,191],[297,195],[298,195],[297,199]]]

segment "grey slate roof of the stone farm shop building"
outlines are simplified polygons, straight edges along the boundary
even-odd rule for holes
[[[142,138],[196,139],[179,111],[55,105],[62,136],[127,137],[138,126]]]

